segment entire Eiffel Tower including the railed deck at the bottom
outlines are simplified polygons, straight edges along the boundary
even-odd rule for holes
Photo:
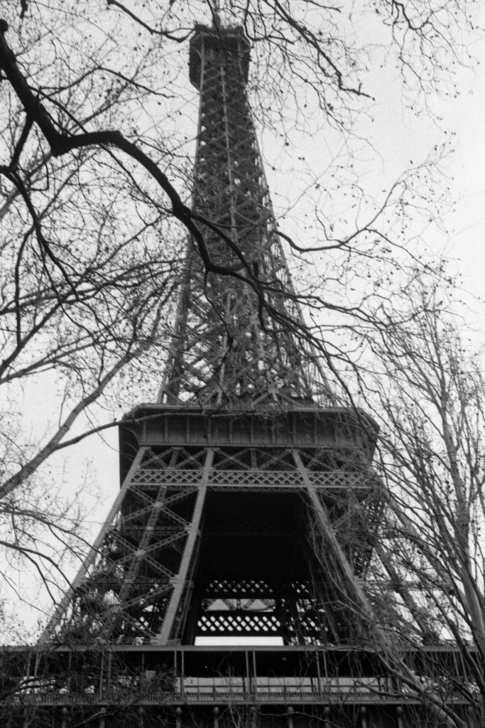
[[[191,39],[193,210],[219,272],[189,240],[159,401],[121,424],[119,496],[25,657],[38,688],[12,726],[414,725],[348,594],[381,513],[377,427],[306,343],[249,52],[239,27]]]

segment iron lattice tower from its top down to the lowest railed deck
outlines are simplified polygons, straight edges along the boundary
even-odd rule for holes
[[[233,242],[202,224],[212,260],[257,271],[272,315],[244,280],[205,274],[189,241],[161,402],[137,408],[135,418],[149,418],[140,427],[121,427],[121,493],[51,637],[159,645],[208,634],[284,644],[351,638],[351,614],[336,607],[335,577],[308,535],[326,506],[348,529],[350,501],[372,490],[375,429],[363,414],[329,407],[318,361],[297,339],[303,323],[275,233],[248,65],[240,28],[197,28],[193,205]],[[345,539],[363,574],[366,541]]]

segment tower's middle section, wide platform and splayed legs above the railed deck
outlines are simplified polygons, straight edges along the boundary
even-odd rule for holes
[[[361,644],[352,599],[382,513],[376,432],[345,408],[137,408],[121,426],[119,497],[43,641]]]

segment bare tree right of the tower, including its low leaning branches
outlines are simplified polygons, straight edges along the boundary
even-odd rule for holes
[[[481,725],[483,366],[473,333],[449,312],[436,279],[414,278],[401,300],[406,321],[390,314],[366,336],[366,405],[381,427],[376,497],[383,510],[369,530],[364,508],[353,503],[350,532],[372,549],[364,582],[342,569],[345,554],[330,543],[331,528],[316,526],[315,538],[353,614],[354,638],[392,678],[386,690],[413,696],[438,724]]]

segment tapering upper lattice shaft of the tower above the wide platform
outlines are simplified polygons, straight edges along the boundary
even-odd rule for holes
[[[247,98],[249,41],[241,28],[199,25],[190,78],[199,89],[193,210],[207,273],[188,241],[185,280],[161,391],[163,403],[329,405],[276,234]]]

